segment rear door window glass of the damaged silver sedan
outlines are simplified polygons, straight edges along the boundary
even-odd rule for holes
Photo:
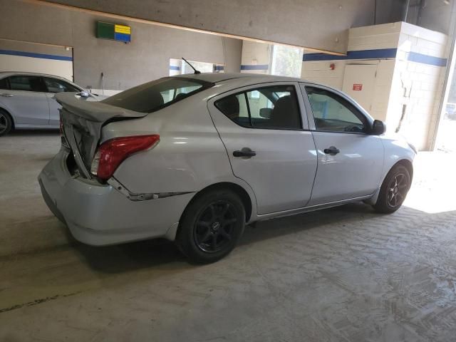
[[[299,130],[301,112],[294,86],[269,86],[229,95],[215,106],[238,125],[248,128]]]

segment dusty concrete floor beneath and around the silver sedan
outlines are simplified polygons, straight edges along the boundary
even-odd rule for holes
[[[263,222],[192,266],[166,241],[68,237],[36,182],[58,145],[0,139],[0,341],[455,341],[455,156],[420,155],[395,214]]]

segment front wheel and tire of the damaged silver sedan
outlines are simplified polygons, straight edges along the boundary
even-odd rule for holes
[[[383,180],[374,209],[383,214],[395,212],[403,204],[409,189],[410,172],[403,165],[395,165]]]

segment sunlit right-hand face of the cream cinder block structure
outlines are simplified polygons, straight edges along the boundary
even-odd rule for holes
[[[420,150],[430,148],[437,125],[447,45],[443,33],[401,23],[388,122]]]

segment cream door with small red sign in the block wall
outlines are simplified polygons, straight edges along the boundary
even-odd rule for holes
[[[356,64],[345,67],[342,91],[371,112],[375,93],[376,64]]]

